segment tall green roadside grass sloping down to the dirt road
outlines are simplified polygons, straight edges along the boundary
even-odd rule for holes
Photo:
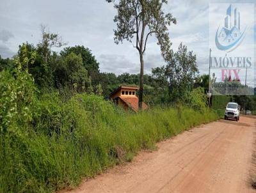
[[[53,192],[74,187],[158,141],[218,119],[188,107],[124,112],[95,95],[62,102],[58,93],[37,98],[31,120],[12,118],[0,138],[0,192]]]

